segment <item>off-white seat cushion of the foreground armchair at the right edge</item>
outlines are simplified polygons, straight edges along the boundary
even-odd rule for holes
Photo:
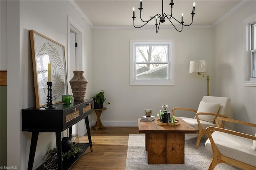
[[[256,166],[256,152],[252,149],[252,140],[218,131],[212,133],[212,138],[221,154]],[[205,142],[205,148],[213,152],[209,139]]]

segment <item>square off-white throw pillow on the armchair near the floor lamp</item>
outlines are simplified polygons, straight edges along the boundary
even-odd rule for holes
[[[218,113],[220,109],[220,103],[212,103],[212,102],[205,102],[201,101],[197,110],[197,113]],[[200,120],[207,121],[213,123],[216,116],[210,115],[199,115]],[[196,118],[196,117],[195,117]]]

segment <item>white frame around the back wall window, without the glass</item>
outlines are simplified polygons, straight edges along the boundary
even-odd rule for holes
[[[136,80],[136,45],[168,45],[167,80]],[[174,40],[130,40],[130,85],[174,85]]]

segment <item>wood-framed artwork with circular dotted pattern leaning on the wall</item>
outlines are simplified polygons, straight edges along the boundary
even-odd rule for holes
[[[34,30],[29,30],[29,34],[32,50],[36,107],[39,108],[47,105],[49,63],[52,63],[52,103],[60,103],[62,102],[62,95],[68,94],[64,45]]]

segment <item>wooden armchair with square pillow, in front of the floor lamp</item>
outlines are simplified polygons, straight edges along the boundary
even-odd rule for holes
[[[198,110],[187,109],[181,107],[174,107],[172,113],[176,116],[176,110],[188,111],[195,115],[194,118],[181,117],[186,123],[194,127],[198,132],[198,138],[196,141],[196,149],[199,148],[200,140],[204,134],[206,134],[207,127],[216,127],[216,117],[226,117],[228,114],[230,105],[230,98],[228,97],[214,97],[204,96],[199,104]],[[176,116],[177,117],[177,116]],[[224,123],[221,125],[224,127]]]

